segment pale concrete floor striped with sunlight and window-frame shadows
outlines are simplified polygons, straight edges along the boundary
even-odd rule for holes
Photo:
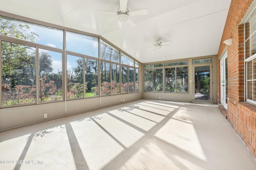
[[[1,170],[256,170],[218,106],[155,100],[1,132],[0,160]]]

